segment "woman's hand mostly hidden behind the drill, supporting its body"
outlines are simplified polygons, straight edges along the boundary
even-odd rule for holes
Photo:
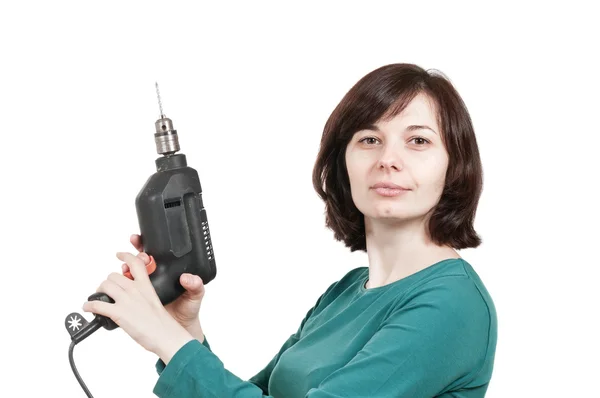
[[[139,252],[138,257],[145,264],[150,263],[150,257],[143,252],[142,239],[140,235],[131,235],[129,241]],[[123,264],[123,272],[129,271],[127,264]],[[188,278],[191,278],[188,280]],[[200,325],[200,305],[204,297],[205,289],[202,279],[198,275],[184,273],[179,278],[185,292],[175,301],[167,304],[165,309],[185,330],[200,342],[204,342],[204,333]]]

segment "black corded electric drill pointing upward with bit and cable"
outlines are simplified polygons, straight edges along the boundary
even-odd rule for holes
[[[156,151],[162,156],[155,160],[156,173],[136,196],[135,207],[143,251],[150,257],[146,270],[160,301],[167,305],[185,291],[179,282],[181,274],[198,275],[206,285],[216,277],[217,269],[198,172],[187,165],[184,154],[177,153],[180,150],[177,130],[173,121],[163,114],[158,84],[156,91],[160,118],[155,122],[154,140]],[[125,275],[133,279],[129,272]],[[90,295],[88,301],[92,300],[114,303],[101,292]],[[71,367],[91,397],[74,366],[73,347],[100,327],[113,330],[118,325],[99,314],[88,323],[74,312],[67,316],[65,327],[72,340]]]

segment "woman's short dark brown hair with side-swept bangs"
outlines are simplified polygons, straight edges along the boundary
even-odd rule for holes
[[[393,118],[420,93],[436,105],[440,135],[449,155],[444,190],[429,219],[430,238],[457,250],[481,244],[473,222],[483,170],[469,112],[441,72],[398,63],[373,70],[346,93],[325,123],[313,169],[313,186],[325,202],[325,226],[351,252],[367,249],[364,215],[350,192],[346,147],[354,133]]]

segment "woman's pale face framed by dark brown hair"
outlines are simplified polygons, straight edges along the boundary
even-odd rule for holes
[[[420,94],[401,114],[356,132],[348,143],[346,165],[352,199],[365,218],[417,219],[439,201],[448,154],[432,106],[428,97]],[[380,182],[406,190],[399,194],[378,191],[373,186]]]

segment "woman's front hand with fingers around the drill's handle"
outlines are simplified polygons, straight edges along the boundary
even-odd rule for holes
[[[127,264],[133,280],[111,273],[96,291],[106,293],[115,302],[86,301],[83,310],[109,317],[166,364],[194,337],[162,305],[144,262],[131,253],[117,253],[117,258]]]

